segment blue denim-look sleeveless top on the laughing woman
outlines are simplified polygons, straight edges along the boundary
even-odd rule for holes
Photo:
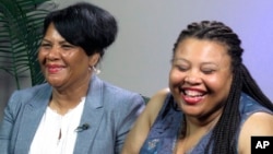
[[[171,107],[174,102],[169,102],[170,94],[167,96],[164,106],[162,107],[147,139],[145,140],[140,154],[173,154],[176,145],[176,140],[181,127],[183,115],[180,110],[175,110]],[[241,116],[240,126],[246,119],[257,111],[271,112],[269,109],[262,107],[247,94],[242,93],[239,104],[239,111]],[[240,128],[240,127],[239,127]],[[212,131],[209,131],[199,143],[187,154],[203,154],[205,146],[211,138]],[[237,143],[238,143],[237,133]],[[212,149],[212,147],[211,147]]]

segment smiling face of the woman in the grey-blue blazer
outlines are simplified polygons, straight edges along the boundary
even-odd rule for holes
[[[90,81],[88,67],[95,63],[78,46],[69,44],[50,24],[38,54],[39,63],[49,84],[58,90],[75,90]]]

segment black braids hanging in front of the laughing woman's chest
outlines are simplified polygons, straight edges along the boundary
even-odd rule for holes
[[[215,154],[232,154],[237,153],[235,134],[240,122],[239,100],[241,90],[240,71],[236,70],[233,78],[233,83],[228,98],[226,100],[223,114],[213,129],[212,138],[205,149],[209,153],[212,143],[214,142],[213,153]]]

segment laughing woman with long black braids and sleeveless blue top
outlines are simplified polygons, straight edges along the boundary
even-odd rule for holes
[[[273,104],[240,44],[222,22],[188,25],[174,45],[169,87],[151,98],[122,153],[249,154],[252,135],[273,135]]]

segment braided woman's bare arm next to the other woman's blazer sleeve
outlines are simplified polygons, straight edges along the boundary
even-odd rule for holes
[[[168,93],[168,88],[159,91],[147,103],[146,108],[140,115],[134,127],[129,132],[122,154],[139,154],[152,125],[154,123]]]

